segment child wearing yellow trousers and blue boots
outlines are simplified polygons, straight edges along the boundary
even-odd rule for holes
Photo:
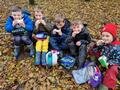
[[[46,22],[43,11],[40,7],[35,8],[34,34],[32,35],[36,42],[35,65],[46,65],[46,53],[48,52],[50,26]]]

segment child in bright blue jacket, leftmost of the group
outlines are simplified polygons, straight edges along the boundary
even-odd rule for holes
[[[32,20],[28,15],[22,14],[20,7],[14,6],[11,10],[11,16],[8,17],[5,30],[12,33],[14,37],[14,56],[17,60],[20,53],[21,41],[30,49],[30,56],[34,55],[33,43],[29,39],[28,32],[33,30]]]

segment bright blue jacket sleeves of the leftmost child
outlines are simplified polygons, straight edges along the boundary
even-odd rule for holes
[[[6,23],[5,23],[5,30],[7,32],[12,32],[12,30],[15,29],[15,27],[13,27],[12,23],[13,23],[13,17],[12,16],[9,16],[6,20]],[[33,22],[32,20],[29,18],[28,15],[24,15],[23,16],[23,20],[24,20],[24,23],[25,23],[25,30],[27,30],[28,32],[32,32],[33,31]]]

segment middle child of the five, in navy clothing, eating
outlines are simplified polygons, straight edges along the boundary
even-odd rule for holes
[[[52,49],[62,52],[67,49],[65,39],[70,34],[70,22],[65,19],[64,15],[57,14],[55,16],[55,25],[53,26],[50,38]],[[61,53],[62,54],[62,53]]]

